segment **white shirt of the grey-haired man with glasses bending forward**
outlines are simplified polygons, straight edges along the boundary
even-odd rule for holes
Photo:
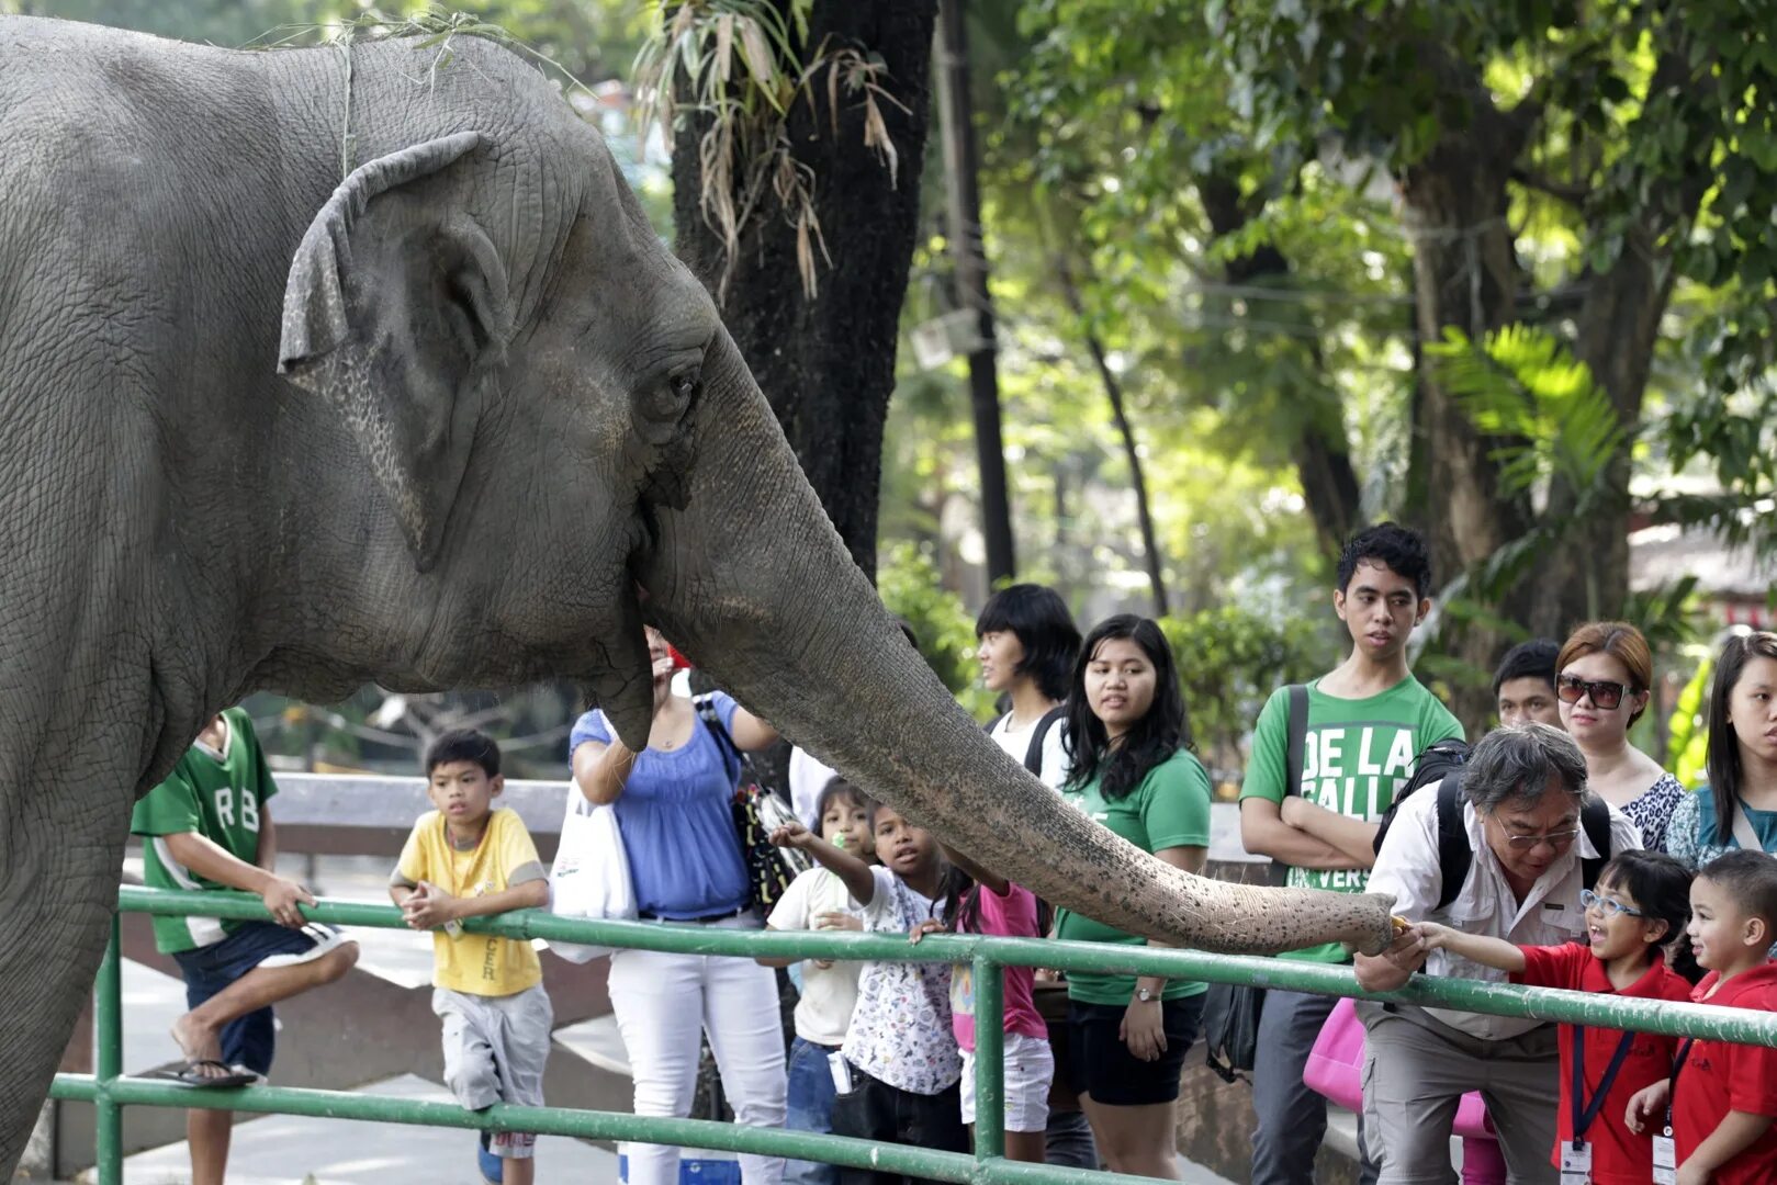
[[[1585,934],[1585,911],[1580,908],[1580,888],[1583,871],[1582,860],[1596,860],[1585,828],[1574,844],[1551,863],[1523,904],[1518,894],[1505,881],[1505,869],[1487,844],[1484,819],[1475,807],[1462,801],[1462,824],[1468,828],[1468,842],[1475,853],[1468,867],[1468,879],[1450,904],[1438,911],[1438,897],[1443,895],[1443,876],[1438,869],[1438,787],[1427,785],[1400,803],[1395,821],[1383,839],[1383,851],[1375,855],[1375,869],[1370,872],[1372,894],[1388,894],[1395,899],[1395,913],[1411,920],[1443,922],[1450,929],[1487,938],[1503,938],[1519,947],[1557,947]],[[1642,833],[1628,815],[1610,807],[1610,851],[1631,851],[1642,846]],[[1471,963],[1450,950],[1432,950],[1425,959],[1427,975],[1446,975],[1459,979],[1489,979],[1505,982],[1505,972],[1480,963]],[[1455,1013],[1448,1009],[1425,1009],[1452,1029],[1461,1029],[1471,1036],[1500,1041],[1530,1032],[1541,1020],[1525,1016],[1484,1016],[1480,1013]]]

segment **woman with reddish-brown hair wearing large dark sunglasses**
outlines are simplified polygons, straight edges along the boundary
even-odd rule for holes
[[[1587,622],[1555,657],[1560,723],[1585,753],[1587,789],[1642,830],[1642,846],[1667,849],[1667,824],[1685,785],[1630,744],[1647,711],[1654,661],[1642,631],[1628,622]]]

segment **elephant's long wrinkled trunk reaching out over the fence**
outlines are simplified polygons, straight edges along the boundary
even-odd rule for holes
[[[1052,904],[1203,950],[1388,945],[1384,897],[1180,872],[1011,760],[906,645],[725,334],[705,377],[682,506],[656,506],[656,545],[633,570],[647,616],[721,686],[869,794]]]

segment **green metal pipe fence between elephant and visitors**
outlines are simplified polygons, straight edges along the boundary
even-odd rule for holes
[[[195,894],[126,887],[119,892],[117,908],[131,913],[171,917],[270,920],[259,899],[249,894]],[[394,906],[323,899],[315,908],[304,908],[304,913],[313,920],[339,926],[405,927],[402,911]],[[931,1151],[906,1144],[880,1144],[842,1135],[750,1128],[709,1119],[659,1119],[620,1112],[512,1107],[506,1103],[496,1103],[487,1110],[464,1110],[453,1103],[428,1103],[345,1091],[307,1091],[275,1086],[188,1089],[165,1082],[130,1078],[123,1075],[121,1066],[121,956],[116,919],[112,920],[110,943],[105,949],[105,961],[100,965],[100,977],[94,988],[98,993],[94,1006],[98,1029],[94,1062],[98,1073],[57,1075],[50,1094],[52,1098],[89,1101],[96,1107],[100,1185],[121,1185],[123,1181],[121,1112],[124,1107],[211,1107],[220,1110],[410,1123],[439,1128],[537,1132],[540,1135],[681,1144],[764,1157],[825,1160],[858,1169],[908,1173],[938,1181],[974,1181],[981,1185],[1048,1181],[1066,1185],[1080,1180],[1082,1174],[1079,1169],[1006,1160],[1000,1077],[1004,1048],[1000,968],[1006,966],[1056,966],[1070,972],[1118,972],[1210,982],[1249,982],[1262,988],[1311,991],[1315,995],[1429,1004],[1496,1016],[1530,1016],[1601,1029],[1635,1029],[1777,1048],[1777,1014],[1770,1013],[1425,975],[1414,977],[1414,982],[1400,991],[1368,993],[1358,988],[1356,977],[1343,966],[1203,954],[1198,950],[1105,947],[1084,942],[986,938],[976,934],[933,934],[913,945],[899,934],[741,931],[707,929],[702,926],[661,926],[652,922],[586,922],[560,919],[537,910],[471,919],[464,922],[464,929],[501,934],[505,938],[551,938],[675,954],[972,963],[977,1022],[977,1121],[974,1155]],[[1146,1180],[1109,1173],[1093,1174],[1093,1178],[1104,1181]]]

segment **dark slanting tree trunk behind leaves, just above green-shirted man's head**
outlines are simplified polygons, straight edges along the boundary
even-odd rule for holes
[[[1240,185],[1231,178],[1198,178],[1198,195],[1215,238],[1226,238],[1251,220],[1253,211],[1246,208]],[[1290,261],[1276,245],[1267,243],[1249,254],[1228,259],[1223,277],[1230,284],[1285,288],[1290,282]],[[1283,314],[1274,313],[1272,316]],[[1303,323],[1311,325],[1306,318]],[[1326,375],[1320,345],[1310,343],[1308,354],[1311,373],[1319,382],[1287,394],[1301,418],[1295,437],[1290,441],[1290,460],[1295,462],[1303,501],[1308,503],[1308,513],[1315,521],[1320,549],[1338,554],[1351,533],[1358,529],[1358,473],[1351,464],[1351,439],[1345,435],[1342,402]]]

